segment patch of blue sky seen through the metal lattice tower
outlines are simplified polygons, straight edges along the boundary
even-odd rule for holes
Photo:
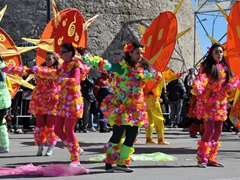
[[[195,0],[192,0],[193,8],[195,10]],[[229,11],[227,11],[229,14]],[[208,12],[207,15],[197,14],[207,33],[216,40],[220,40],[225,33],[227,32],[227,21],[219,11],[216,12]],[[207,20],[206,20],[207,19]],[[204,31],[201,24],[196,20],[197,32],[199,35],[199,40],[202,48],[203,54],[207,52],[207,47],[211,46],[211,41],[207,38],[206,32]],[[220,43],[226,42],[226,36],[220,41]]]

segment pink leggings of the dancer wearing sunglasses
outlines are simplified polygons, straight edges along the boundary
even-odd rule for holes
[[[74,133],[74,127],[77,119],[70,119],[66,117],[57,116],[55,123],[55,134],[62,140],[68,142],[76,141],[76,135]]]

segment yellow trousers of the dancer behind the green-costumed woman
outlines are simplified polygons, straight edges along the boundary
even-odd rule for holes
[[[158,140],[164,140],[164,117],[159,100],[160,99],[154,95],[146,96],[147,113],[149,117],[149,126],[146,127],[147,140],[152,139],[153,127],[155,127]]]

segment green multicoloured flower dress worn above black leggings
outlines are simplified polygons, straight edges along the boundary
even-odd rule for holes
[[[102,112],[113,125],[148,126],[143,88],[150,79],[159,81],[161,73],[153,68],[148,71],[141,67],[130,67],[120,62],[123,74],[115,73],[114,94],[102,102]]]

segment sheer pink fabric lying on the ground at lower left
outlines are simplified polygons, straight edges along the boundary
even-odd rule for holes
[[[27,164],[16,168],[0,167],[0,175],[29,175],[29,176],[74,176],[89,173],[89,169],[82,166],[70,167],[69,164],[49,164],[45,167]]]

